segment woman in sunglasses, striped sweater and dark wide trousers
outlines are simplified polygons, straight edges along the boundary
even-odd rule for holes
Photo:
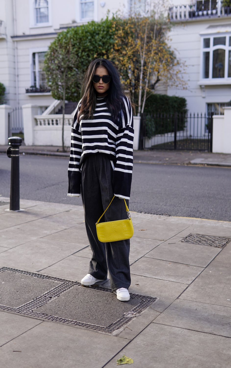
[[[133,167],[133,115],[118,71],[109,60],[91,61],[72,123],[68,195],[82,194],[87,236],[93,252],[84,286],[107,279],[121,301],[128,301],[131,283],[130,240],[101,243],[95,223],[111,202],[105,221],[127,216]]]

